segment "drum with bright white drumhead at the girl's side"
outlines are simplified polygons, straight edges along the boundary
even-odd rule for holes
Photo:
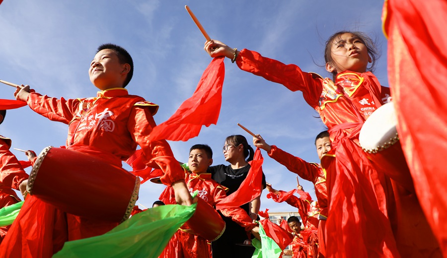
[[[373,165],[406,190],[414,193],[413,180],[397,135],[393,103],[378,108],[365,121],[359,134],[362,149]]]

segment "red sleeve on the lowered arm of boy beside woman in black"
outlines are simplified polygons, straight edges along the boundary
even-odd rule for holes
[[[223,200],[226,197],[225,191],[221,188],[216,188],[214,193],[214,200],[216,203]],[[248,216],[247,212],[240,207],[227,207],[220,210],[225,217],[230,217],[231,220],[243,227],[245,231],[252,230],[256,224]]]

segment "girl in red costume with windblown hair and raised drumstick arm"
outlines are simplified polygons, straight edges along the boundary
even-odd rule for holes
[[[245,71],[302,91],[331,134],[332,150],[322,158],[327,172],[328,257],[399,257],[389,220],[389,179],[373,168],[358,144],[365,120],[389,97],[371,70],[377,51],[363,33],[341,31],[326,42],[326,70],[332,78],[303,72],[220,41],[205,43],[211,57],[225,56]],[[371,65],[370,65],[371,64]]]

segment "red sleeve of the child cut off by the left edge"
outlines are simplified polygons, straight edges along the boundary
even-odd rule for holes
[[[15,190],[20,183],[28,179],[28,174],[22,169],[19,161],[9,151],[8,145],[0,138],[0,182]]]

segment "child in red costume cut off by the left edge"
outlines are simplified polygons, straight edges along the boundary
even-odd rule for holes
[[[6,110],[0,110],[0,124],[5,115]],[[11,139],[0,135],[0,208],[21,201],[12,189],[21,191],[23,194],[26,185],[21,185],[21,183],[28,179],[28,174],[23,170],[14,154],[9,151],[10,147]],[[9,227],[0,227],[0,243]]]

